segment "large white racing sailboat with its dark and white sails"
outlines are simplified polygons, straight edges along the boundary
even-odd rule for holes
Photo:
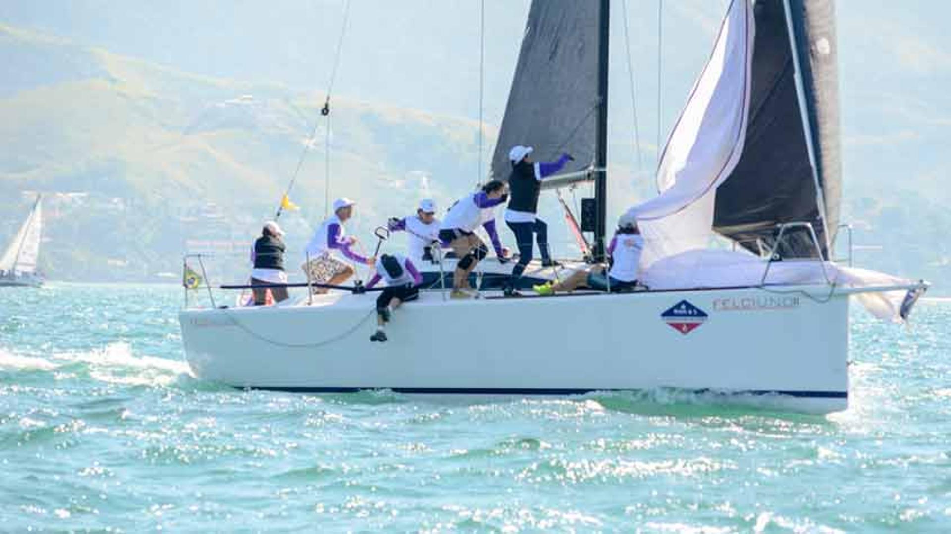
[[[567,135],[577,164],[557,183],[594,181],[594,257],[603,257],[607,228],[609,8],[608,0],[533,2],[494,164],[507,168],[511,144],[556,150]],[[832,260],[840,202],[833,16],[828,0],[733,0],[670,134],[661,194],[633,208],[647,240],[645,291],[504,298],[487,289],[449,300],[431,283],[399,310],[388,343],[367,341],[373,295],[239,309],[212,302],[180,315],[192,372],[280,391],[673,388],[784,410],[845,410],[851,297],[899,321],[926,284]],[[455,261],[427,267],[449,273]]]

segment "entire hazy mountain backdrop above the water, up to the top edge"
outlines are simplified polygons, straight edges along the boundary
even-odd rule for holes
[[[660,54],[656,1],[625,5],[638,170],[625,19],[612,3],[611,213],[651,194],[657,103],[663,132],[706,60],[725,4],[665,3]],[[478,178],[479,4],[350,5],[331,116],[331,196],[359,198],[359,229],[368,232],[423,191],[446,205]],[[0,238],[29,207],[22,191],[85,192],[49,200],[41,262],[52,277],[176,271],[188,238],[253,235],[312,143],[292,194],[303,210],[282,218],[299,247],[323,211],[319,108],[342,6],[0,4]],[[488,155],[528,3],[485,6]],[[941,240],[951,222],[943,149],[951,55],[939,16],[949,10],[938,2],[920,10],[839,5],[844,216],[866,247],[861,263],[906,276],[943,279],[951,269]],[[559,219],[553,200],[544,209]]]

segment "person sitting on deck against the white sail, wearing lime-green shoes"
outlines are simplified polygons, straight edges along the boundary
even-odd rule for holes
[[[604,268],[592,267],[590,271],[576,271],[570,277],[558,283],[547,282],[533,287],[541,296],[555,293],[572,292],[581,286],[600,291],[628,292],[637,286],[637,266],[644,250],[644,238],[637,228],[637,219],[633,214],[624,214],[618,220],[617,231],[611,238],[608,254],[611,256],[611,269],[605,276]]]

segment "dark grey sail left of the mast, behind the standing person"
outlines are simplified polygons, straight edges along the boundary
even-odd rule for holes
[[[492,176],[512,172],[509,149],[535,147],[536,161],[561,152],[574,157],[563,173],[592,166],[598,107],[598,29],[601,2],[534,0],[502,119]],[[592,180],[577,173],[579,180]]]

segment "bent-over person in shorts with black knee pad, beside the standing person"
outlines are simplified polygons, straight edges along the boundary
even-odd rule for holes
[[[495,255],[499,261],[505,261],[505,251],[495,231],[495,206],[508,199],[506,185],[503,181],[489,181],[482,188],[460,200],[457,200],[446,219],[442,220],[439,230],[439,239],[456,253],[459,258],[456,271],[453,272],[453,298],[468,298],[470,295],[463,291],[469,284],[469,274],[476,268],[478,262],[489,256],[489,248],[476,235],[479,225],[485,228],[495,247]]]

